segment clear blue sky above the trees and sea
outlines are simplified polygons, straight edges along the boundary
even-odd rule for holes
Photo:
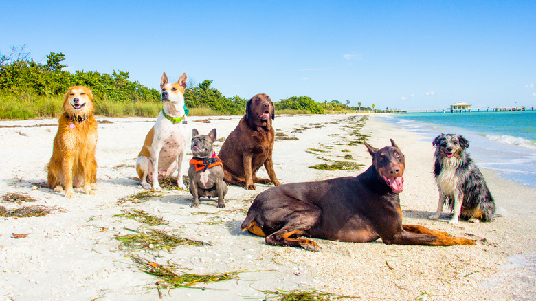
[[[536,107],[535,1],[1,1],[0,52],[224,96]]]

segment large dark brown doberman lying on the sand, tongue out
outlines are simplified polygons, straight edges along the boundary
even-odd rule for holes
[[[318,251],[300,236],[365,243],[381,238],[399,245],[474,245],[420,225],[402,225],[404,155],[397,144],[378,150],[364,142],[372,166],[357,177],[289,183],[258,194],[241,225],[269,245]]]

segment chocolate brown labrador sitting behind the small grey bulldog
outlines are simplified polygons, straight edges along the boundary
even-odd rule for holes
[[[273,102],[266,94],[257,94],[247,101],[246,113],[221,146],[218,157],[223,163],[223,180],[232,185],[255,189],[254,183],[280,185],[273,171],[271,153],[275,117]],[[270,179],[259,179],[255,174],[265,166]]]

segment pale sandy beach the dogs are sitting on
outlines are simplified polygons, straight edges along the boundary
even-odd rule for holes
[[[220,138],[227,137],[240,118],[190,117],[189,124],[205,134],[216,128]],[[43,187],[58,120],[0,121],[0,197],[19,193],[37,200],[24,204],[0,200],[0,205],[8,210],[24,205],[52,209],[47,216],[0,218],[1,300],[158,300],[158,279],[140,271],[131,255],[156,265],[176,265],[185,273],[243,271],[232,280],[198,283],[194,288],[161,288],[164,300],[263,300],[264,291],[276,289],[317,290],[366,300],[536,299],[536,190],[500,179],[493,170],[482,170],[506,215],[492,223],[449,225],[444,211],[438,221],[431,221],[427,216],[435,212],[438,201],[432,142],[374,115],[276,116],[276,133],[287,135],[273,149],[278,179],[291,183],[358,175],[371,161],[363,145],[348,145],[355,139],[350,131],[360,121],[361,134],[370,135],[372,146],[386,146],[392,138],[405,155],[404,223],[473,238],[478,240],[475,246],[385,245],[381,240],[358,244],[315,238],[321,252],[269,246],[264,238],[239,229],[254,197],[269,188],[260,184],[254,191],[230,186],[224,209],[217,208],[214,199],[201,199],[200,208],[190,208],[192,196],[181,190],[164,190],[144,202],[121,201],[144,191],[132,177],[135,158],[155,119],[97,120],[98,190],[94,196],[76,190],[73,199]],[[221,144],[214,144],[216,151]],[[329,164],[324,159],[348,161],[343,158],[346,154],[366,167],[360,171],[309,168]],[[186,163],[183,170],[186,175]],[[258,175],[267,177],[264,168]],[[144,210],[168,223],[150,226],[115,216],[124,210]],[[118,236],[149,229],[210,245],[169,250],[120,246]],[[28,235],[14,238],[14,234]]]

